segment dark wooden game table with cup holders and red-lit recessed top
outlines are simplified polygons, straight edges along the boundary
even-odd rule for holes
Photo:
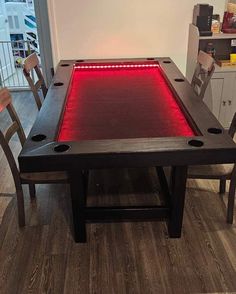
[[[21,172],[68,172],[75,241],[85,242],[88,221],[165,219],[180,237],[187,167],[235,158],[235,143],[170,58],[127,58],[60,61],[18,159]],[[86,205],[90,170],[139,167],[156,167],[165,204]]]

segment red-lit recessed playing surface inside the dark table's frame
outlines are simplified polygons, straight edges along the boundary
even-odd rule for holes
[[[159,67],[75,68],[58,141],[194,136]]]

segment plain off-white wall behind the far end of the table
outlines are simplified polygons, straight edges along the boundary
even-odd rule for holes
[[[48,0],[54,63],[60,59],[170,56],[185,73],[193,6],[224,0]]]

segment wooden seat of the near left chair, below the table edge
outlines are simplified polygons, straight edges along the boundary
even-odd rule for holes
[[[66,182],[69,177],[64,171],[56,172],[39,172],[39,173],[21,173],[20,178],[23,183],[54,183],[54,182]]]

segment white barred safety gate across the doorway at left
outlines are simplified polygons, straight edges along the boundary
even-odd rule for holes
[[[0,41],[0,87],[29,88],[22,67],[24,59],[34,52],[33,48],[32,41]]]

